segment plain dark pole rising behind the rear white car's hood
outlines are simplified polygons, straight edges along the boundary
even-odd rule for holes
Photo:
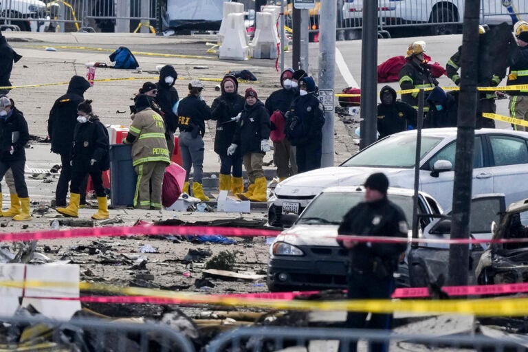
[[[361,43],[360,149],[376,141],[377,131],[377,0],[363,1]]]

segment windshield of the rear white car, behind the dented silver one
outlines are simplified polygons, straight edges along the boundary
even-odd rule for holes
[[[420,159],[441,141],[441,137],[422,137]],[[369,148],[354,155],[341,166],[413,168],[415,167],[415,153],[415,135],[394,135],[369,146]]]

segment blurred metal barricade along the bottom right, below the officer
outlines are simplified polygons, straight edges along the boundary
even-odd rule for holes
[[[212,340],[206,349],[207,352],[221,351],[279,351],[286,347],[308,347],[309,342],[319,342],[317,347],[310,351],[329,351],[330,342],[340,342],[339,352],[349,351],[349,342],[360,340],[361,344],[369,342],[390,342],[391,344],[404,344],[405,351],[426,351],[449,348],[448,351],[525,351],[524,347],[511,341],[511,338],[489,338],[487,336],[433,336],[396,334],[384,331],[353,330],[353,329],[327,329],[327,328],[295,328],[295,327],[245,327],[223,333]],[[391,349],[389,349],[391,350]],[[366,351],[366,349],[360,349]]]

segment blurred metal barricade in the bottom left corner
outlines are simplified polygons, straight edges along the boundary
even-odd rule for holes
[[[196,351],[186,336],[163,325],[17,316],[0,318],[0,322],[2,351]],[[27,327],[33,330],[23,331]]]

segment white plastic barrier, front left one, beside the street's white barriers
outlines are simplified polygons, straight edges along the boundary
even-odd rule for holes
[[[246,41],[244,14],[228,14],[225,19],[225,36],[218,56],[222,59],[245,60],[250,54]]]

